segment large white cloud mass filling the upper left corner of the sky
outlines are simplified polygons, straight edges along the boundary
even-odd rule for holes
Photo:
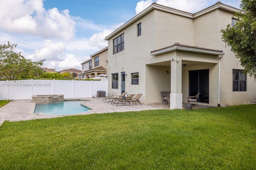
[[[45,10],[43,0],[1,0],[0,29],[68,40],[75,35],[75,21],[68,10]]]

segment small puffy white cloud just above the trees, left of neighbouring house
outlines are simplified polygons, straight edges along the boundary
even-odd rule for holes
[[[64,61],[58,63],[59,68],[81,68],[82,61],[77,59],[73,54],[66,55]]]

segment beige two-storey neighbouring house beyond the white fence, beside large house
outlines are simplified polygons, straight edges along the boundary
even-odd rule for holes
[[[108,47],[94,53],[90,57],[91,59],[81,63],[83,72],[78,75],[80,79],[89,79],[99,74],[108,74]]]

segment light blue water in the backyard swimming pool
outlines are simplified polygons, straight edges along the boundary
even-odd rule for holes
[[[90,108],[82,106],[80,101],[65,101],[53,104],[36,104],[34,113],[69,115],[83,113],[88,110],[90,110]]]

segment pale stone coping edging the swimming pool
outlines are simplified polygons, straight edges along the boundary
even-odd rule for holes
[[[85,104],[86,101],[90,101],[90,100],[84,100],[84,99],[64,99],[64,102],[65,101],[80,101],[81,102],[81,105],[83,105],[84,107],[87,107],[89,108],[90,110],[86,111],[86,112],[82,112],[82,113],[75,113],[75,114],[64,114],[64,115],[58,115],[58,116],[68,116],[68,115],[84,115],[84,114],[88,114],[90,112],[92,112],[94,109],[88,105]],[[84,101],[84,102],[83,102]],[[40,114],[40,115],[53,115],[53,114],[47,114],[47,113],[34,113],[36,109],[36,103],[31,103],[31,107],[28,111],[28,115],[34,115],[34,114]]]

